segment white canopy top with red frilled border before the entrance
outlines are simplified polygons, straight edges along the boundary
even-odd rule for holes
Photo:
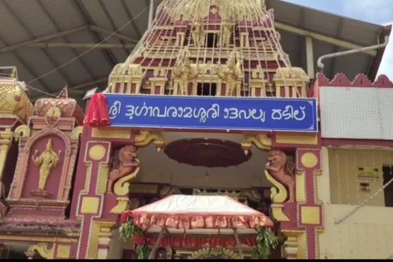
[[[132,216],[134,224],[170,233],[254,234],[258,227],[273,226],[265,214],[224,195],[170,195],[155,203],[126,211],[122,222]]]

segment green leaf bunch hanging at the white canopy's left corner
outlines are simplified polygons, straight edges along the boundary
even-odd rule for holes
[[[147,259],[150,255],[150,248],[146,245],[146,236],[142,229],[134,225],[133,218],[129,217],[120,227],[120,237],[124,242],[132,239],[137,245],[136,252],[138,259]]]

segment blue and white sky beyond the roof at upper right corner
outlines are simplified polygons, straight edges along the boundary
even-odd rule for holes
[[[393,24],[393,0],[284,0],[322,11],[342,15],[377,25]],[[393,81],[393,31],[385,49],[378,74]]]

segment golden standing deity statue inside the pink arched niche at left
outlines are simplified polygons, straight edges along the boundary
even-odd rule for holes
[[[56,154],[53,150],[52,139],[49,139],[45,151],[43,151],[39,157],[35,158],[37,154],[38,150],[35,150],[32,159],[34,164],[39,167],[38,190],[44,191],[52,167],[57,166],[57,163],[59,162],[61,150],[59,150],[58,154]]]

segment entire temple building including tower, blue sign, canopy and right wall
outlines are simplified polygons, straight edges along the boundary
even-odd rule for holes
[[[163,0],[84,109],[1,67],[0,257],[392,258],[393,83],[310,76],[274,21]]]

